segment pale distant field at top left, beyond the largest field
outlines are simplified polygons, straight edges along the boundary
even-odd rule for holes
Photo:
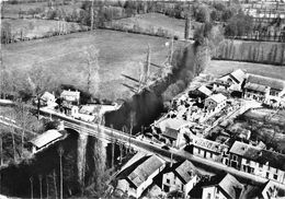
[[[34,38],[50,35],[59,30],[59,22],[53,20],[33,20],[33,19],[4,19],[2,24],[9,23],[11,25],[11,33],[15,38],[23,37]],[[65,32],[78,32],[84,28],[77,23],[61,22],[60,30]]]

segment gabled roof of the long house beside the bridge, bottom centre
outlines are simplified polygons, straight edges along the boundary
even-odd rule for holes
[[[146,155],[138,159],[132,165],[118,174],[119,179],[127,179],[138,188],[151,174],[163,166],[164,162],[157,155]]]

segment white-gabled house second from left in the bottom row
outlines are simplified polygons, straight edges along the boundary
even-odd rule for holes
[[[162,190],[166,192],[181,191],[186,198],[191,189],[197,184],[198,176],[195,166],[190,161],[179,162],[163,172]]]

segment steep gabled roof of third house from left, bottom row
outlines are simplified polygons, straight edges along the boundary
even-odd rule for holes
[[[221,174],[210,178],[202,187],[217,186],[227,198],[239,198],[243,185],[230,174]]]

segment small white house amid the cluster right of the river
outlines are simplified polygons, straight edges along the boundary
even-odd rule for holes
[[[220,112],[225,106],[227,102],[227,97],[220,93],[210,95],[205,99],[205,110],[208,114],[215,114]]]

